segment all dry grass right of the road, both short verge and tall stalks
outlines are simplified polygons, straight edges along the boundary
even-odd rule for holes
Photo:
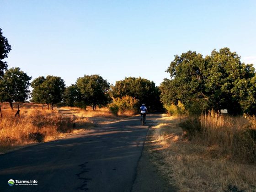
[[[163,115],[153,127],[151,144],[164,162],[158,165],[160,171],[181,192],[256,191],[255,162],[248,163],[244,157],[238,157],[245,155],[244,152],[234,156],[233,151],[229,151],[233,145],[230,142],[235,141],[230,138],[249,121],[243,117],[233,121],[202,118],[205,119],[201,123],[208,123],[210,129],[204,133],[205,138],[202,135],[192,140],[184,137],[187,133],[179,126],[184,120],[179,117]],[[220,130],[220,125],[227,129]]]

